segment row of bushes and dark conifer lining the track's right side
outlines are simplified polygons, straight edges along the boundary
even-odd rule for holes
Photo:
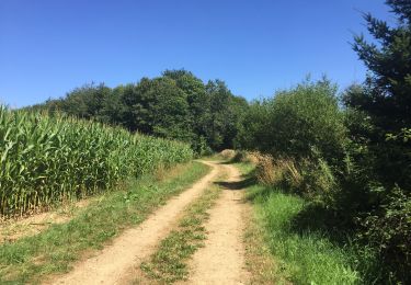
[[[365,14],[377,44],[353,44],[369,70],[364,84],[339,96],[327,79],[305,81],[254,101],[237,145],[272,156],[267,183],[312,202],[301,216],[374,252],[365,280],[410,284],[411,4],[387,3],[398,25]]]

